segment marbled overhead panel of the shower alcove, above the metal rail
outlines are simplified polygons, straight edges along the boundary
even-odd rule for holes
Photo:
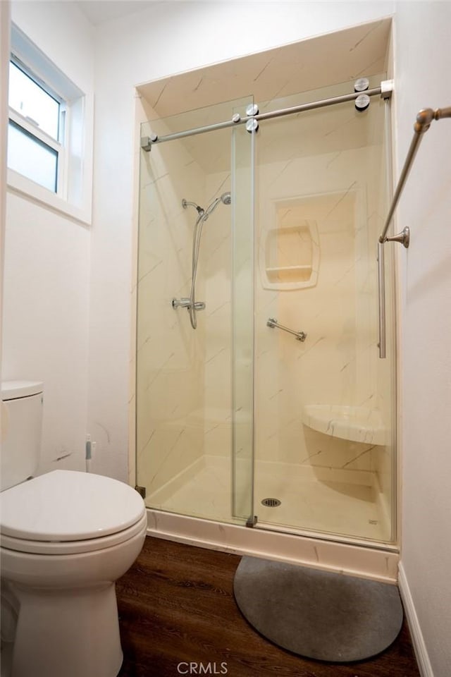
[[[154,106],[154,117],[164,117],[250,92],[269,101],[369,77],[386,68],[390,26],[390,17],[354,25],[143,83],[139,90]]]

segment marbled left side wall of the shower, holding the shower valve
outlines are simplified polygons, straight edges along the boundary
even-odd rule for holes
[[[148,133],[144,128],[143,134]],[[192,232],[204,172],[181,142],[142,154],[137,282],[137,469],[152,493],[203,453],[204,330],[173,297],[190,295]],[[202,271],[199,271],[202,293]],[[199,297],[200,298],[200,297]],[[190,421],[187,423],[187,420]]]

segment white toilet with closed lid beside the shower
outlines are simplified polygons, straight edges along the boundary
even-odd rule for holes
[[[1,397],[2,677],[6,662],[11,677],[116,677],[115,583],[142,549],[144,501],[89,472],[35,477],[42,383],[4,382]]]

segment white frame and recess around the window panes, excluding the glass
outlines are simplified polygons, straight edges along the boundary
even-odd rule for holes
[[[83,224],[92,220],[93,102],[16,25],[11,25],[11,61],[61,101],[63,136],[57,141],[9,109],[9,119],[58,152],[57,192],[8,169],[8,190]]]

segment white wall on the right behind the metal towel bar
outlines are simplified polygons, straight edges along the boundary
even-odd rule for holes
[[[397,159],[417,112],[451,105],[450,2],[400,2],[395,20]],[[427,30],[425,30],[427,27]],[[434,121],[397,214],[402,272],[402,568],[433,675],[451,665],[451,119]]]

